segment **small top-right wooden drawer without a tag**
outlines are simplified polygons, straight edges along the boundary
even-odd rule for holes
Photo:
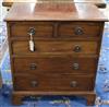
[[[60,37],[93,37],[100,35],[101,23],[69,22],[59,25]]]

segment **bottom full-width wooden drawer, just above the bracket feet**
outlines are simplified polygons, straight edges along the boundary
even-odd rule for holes
[[[85,75],[14,75],[15,91],[93,91],[93,76]]]

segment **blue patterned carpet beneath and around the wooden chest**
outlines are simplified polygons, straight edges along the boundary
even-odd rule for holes
[[[0,92],[0,107],[14,107],[11,105],[11,70],[9,52],[4,55],[1,63],[1,73],[3,79],[3,90]],[[106,24],[99,64],[96,80],[97,96],[101,99],[109,100],[109,25]],[[56,103],[55,103],[56,102]],[[26,97],[24,105],[15,107],[86,107],[86,100],[76,96],[41,96],[41,97]],[[66,103],[70,106],[66,106]],[[94,106],[95,107],[95,106]],[[100,107],[109,107],[109,105],[101,105]]]

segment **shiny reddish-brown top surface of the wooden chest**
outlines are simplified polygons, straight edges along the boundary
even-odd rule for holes
[[[88,3],[14,3],[5,21],[107,21]]]

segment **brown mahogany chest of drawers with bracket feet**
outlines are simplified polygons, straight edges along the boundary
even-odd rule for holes
[[[95,102],[105,16],[81,3],[15,3],[7,19],[12,102],[29,95],[77,95]]]

